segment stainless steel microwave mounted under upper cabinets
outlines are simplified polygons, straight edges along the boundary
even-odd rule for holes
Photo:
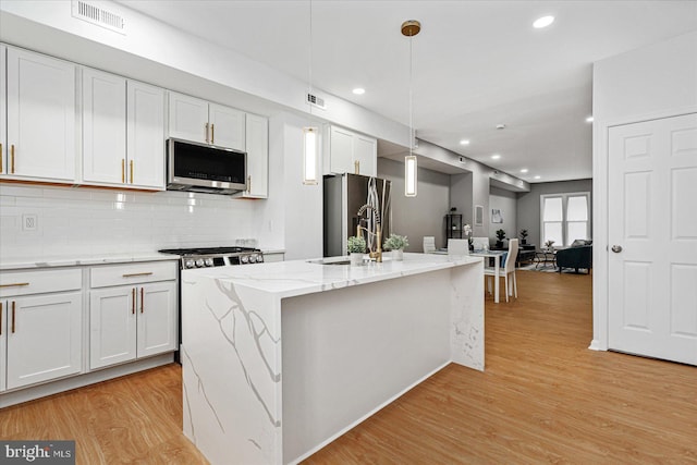
[[[169,191],[235,194],[246,188],[247,154],[225,147],[167,140]]]

